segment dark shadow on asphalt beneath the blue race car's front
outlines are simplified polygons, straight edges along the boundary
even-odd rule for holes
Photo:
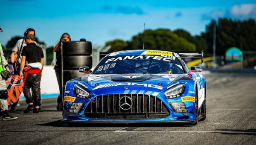
[[[97,124],[97,123],[86,123],[86,124],[63,124],[62,119],[54,121],[54,122],[48,122],[44,124],[37,124],[41,126],[52,126],[52,127],[72,127],[72,128],[107,128],[107,127],[191,127],[193,125],[184,125],[184,124],[168,124],[168,123],[140,123],[140,124]]]

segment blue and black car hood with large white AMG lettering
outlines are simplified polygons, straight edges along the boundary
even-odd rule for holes
[[[151,89],[163,90],[180,75],[165,74],[116,74],[116,75],[85,75],[81,78],[92,90],[114,87],[151,87]]]

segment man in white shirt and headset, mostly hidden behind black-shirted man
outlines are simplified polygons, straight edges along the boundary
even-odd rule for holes
[[[31,35],[34,35],[35,36],[35,30],[32,29],[32,28],[28,28],[26,29],[26,31],[24,32],[24,38],[21,38],[17,41],[17,43],[15,44],[15,46],[13,47],[12,49],[12,54],[11,54],[11,64],[15,64],[15,55],[17,54],[18,57],[17,57],[17,74],[20,75],[20,61],[21,61],[21,52],[22,52],[22,49],[24,46],[26,46],[26,35],[28,34],[31,34]],[[35,44],[37,44],[35,42]],[[12,66],[12,71],[14,71],[14,66]],[[23,80],[24,81],[24,80]],[[16,106],[17,106],[17,103],[18,103],[19,100],[17,100],[16,103],[12,104],[11,105],[11,112],[16,112]],[[39,109],[39,111],[43,111],[41,108]]]

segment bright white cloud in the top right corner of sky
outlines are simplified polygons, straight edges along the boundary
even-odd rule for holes
[[[239,19],[256,18],[256,4],[234,5],[228,10],[228,15]]]

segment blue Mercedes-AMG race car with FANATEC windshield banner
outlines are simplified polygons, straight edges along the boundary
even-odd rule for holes
[[[99,64],[67,81],[63,123],[188,123],[206,119],[206,81],[182,58],[203,51],[100,52]]]

